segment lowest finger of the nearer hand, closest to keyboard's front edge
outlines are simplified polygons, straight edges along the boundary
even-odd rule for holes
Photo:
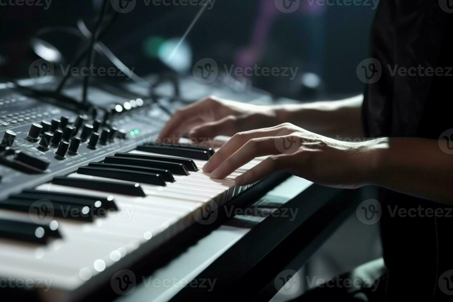
[[[247,185],[259,181],[272,173],[288,170],[291,164],[293,154],[279,154],[266,158],[246,173],[236,177],[236,185]]]

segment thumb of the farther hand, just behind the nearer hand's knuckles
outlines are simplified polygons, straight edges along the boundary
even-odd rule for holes
[[[217,135],[234,135],[237,132],[236,116],[228,115],[214,122],[194,127],[189,132],[189,139],[213,138]]]

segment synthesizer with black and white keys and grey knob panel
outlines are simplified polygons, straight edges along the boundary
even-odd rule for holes
[[[0,278],[32,280],[42,301],[83,299],[131,255],[212,223],[263,159],[214,180],[201,170],[214,149],[153,142],[165,119],[150,100],[106,109],[87,117],[0,90]]]

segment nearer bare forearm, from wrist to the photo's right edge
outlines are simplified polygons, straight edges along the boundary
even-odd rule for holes
[[[453,154],[443,152],[437,140],[386,138],[371,144],[369,184],[453,205]]]

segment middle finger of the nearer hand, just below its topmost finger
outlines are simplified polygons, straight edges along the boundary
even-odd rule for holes
[[[221,163],[220,166],[212,172],[211,177],[217,179],[225,178],[237,168],[242,167],[256,157],[279,154],[280,152],[275,145],[275,139],[280,139],[280,137],[265,137],[249,140],[233,155]]]

